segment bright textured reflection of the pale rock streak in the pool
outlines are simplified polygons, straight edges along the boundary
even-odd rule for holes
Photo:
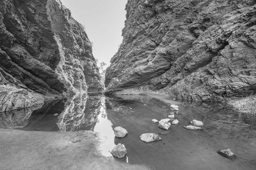
[[[93,130],[100,113],[100,96],[81,94],[67,99],[58,117],[60,131]]]

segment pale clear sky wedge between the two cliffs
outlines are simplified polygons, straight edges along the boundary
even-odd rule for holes
[[[122,43],[127,0],[61,0],[72,17],[84,25],[93,55],[109,64]]]

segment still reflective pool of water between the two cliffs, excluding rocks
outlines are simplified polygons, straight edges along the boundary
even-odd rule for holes
[[[156,143],[143,143],[139,137],[147,132],[163,132],[151,120],[167,118],[172,110],[170,104],[149,96],[74,96],[35,111],[0,113],[0,127],[24,131],[92,130],[99,134],[102,155],[112,157],[109,151],[124,143],[127,157],[116,160],[151,169],[256,169],[255,118],[222,104],[180,103],[179,108],[176,118],[180,124],[171,127],[165,136],[161,135],[163,141]],[[204,122],[203,131],[183,128],[193,119]],[[128,135],[115,138],[116,126],[127,129]],[[216,150],[221,148],[230,148],[237,159],[218,155]]]

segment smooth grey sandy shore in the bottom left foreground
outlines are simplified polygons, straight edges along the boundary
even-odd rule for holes
[[[40,132],[0,129],[0,169],[147,169],[103,157],[92,131]]]

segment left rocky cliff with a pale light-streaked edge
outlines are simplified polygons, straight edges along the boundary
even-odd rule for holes
[[[99,90],[92,45],[60,0],[0,1],[0,111]]]

